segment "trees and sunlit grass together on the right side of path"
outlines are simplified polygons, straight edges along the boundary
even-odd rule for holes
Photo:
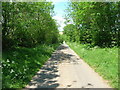
[[[63,31],[67,44],[114,88],[118,88],[119,6],[120,2],[69,2]]]

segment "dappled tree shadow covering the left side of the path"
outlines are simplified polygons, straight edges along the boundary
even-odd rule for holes
[[[35,86],[35,88],[56,88],[59,86],[57,83],[57,78],[60,77],[58,73],[58,64],[63,61],[73,61],[71,57],[73,55],[63,53],[61,50],[69,48],[68,46],[61,45],[58,47],[56,52],[54,52],[51,58],[46,62],[46,64],[41,68],[40,72],[33,77],[29,86]]]

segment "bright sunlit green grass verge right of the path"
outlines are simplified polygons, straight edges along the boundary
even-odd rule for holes
[[[118,88],[118,48],[90,48],[72,42],[67,44],[112,87]]]

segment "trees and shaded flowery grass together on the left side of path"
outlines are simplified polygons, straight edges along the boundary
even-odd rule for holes
[[[51,2],[2,2],[2,88],[23,88],[59,45]]]

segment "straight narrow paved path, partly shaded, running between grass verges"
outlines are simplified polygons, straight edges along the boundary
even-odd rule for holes
[[[26,88],[111,88],[67,44],[62,44]]]

